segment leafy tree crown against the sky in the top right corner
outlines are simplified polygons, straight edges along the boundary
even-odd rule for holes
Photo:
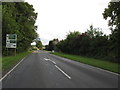
[[[120,1],[109,2],[108,8],[104,10],[103,17],[104,19],[109,18],[109,26],[115,25],[115,28],[118,29],[120,27]]]

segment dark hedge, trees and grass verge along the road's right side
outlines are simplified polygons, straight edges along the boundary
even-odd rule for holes
[[[52,54],[120,73],[120,1],[110,2],[102,13],[111,34],[93,25],[83,33],[69,32],[66,38],[53,39],[46,45]],[[55,43],[57,42],[57,43]],[[55,52],[54,52],[55,51]]]

